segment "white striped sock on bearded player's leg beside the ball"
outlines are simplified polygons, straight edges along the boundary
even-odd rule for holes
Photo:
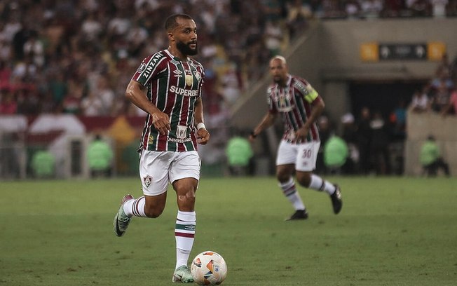
[[[176,268],[186,265],[195,237],[196,213],[178,211],[175,226]]]

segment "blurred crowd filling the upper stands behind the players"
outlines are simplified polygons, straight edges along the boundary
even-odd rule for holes
[[[18,0],[0,4],[0,114],[141,114],[125,102],[138,60],[165,47],[164,17],[198,22],[205,104],[219,114],[313,18],[457,15],[456,0]]]

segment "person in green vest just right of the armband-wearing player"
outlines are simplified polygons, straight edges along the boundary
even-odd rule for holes
[[[339,173],[348,159],[348,144],[336,135],[332,135],[324,145],[324,163],[330,172]]]

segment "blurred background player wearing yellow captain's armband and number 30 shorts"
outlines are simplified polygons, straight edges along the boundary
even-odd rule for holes
[[[282,116],[285,130],[278,147],[276,177],[282,193],[295,208],[287,220],[308,218],[306,207],[296,191],[294,172],[301,186],[328,193],[333,211],[338,214],[343,205],[339,186],[313,174],[320,147],[315,122],[324,110],[324,100],[307,81],[289,74],[282,56],[270,60],[270,74],[273,83],[267,90],[268,111],[252,130],[250,140],[252,142],[260,132],[273,125],[278,114]]]

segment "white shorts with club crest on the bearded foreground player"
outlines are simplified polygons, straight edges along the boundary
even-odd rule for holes
[[[146,196],[158,196],[177,179],[200,179],[200,156],[197,151],[147,151],[139,157],[139,177]]]

